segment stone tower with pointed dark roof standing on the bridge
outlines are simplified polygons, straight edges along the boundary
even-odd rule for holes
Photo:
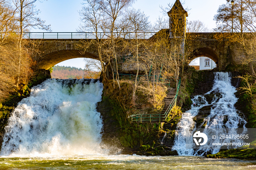
[[[180,0],[176,0],[172,9],[167,12],[169,16],[170,38],[186,37],[186,17],[188,12],[182,7]]]

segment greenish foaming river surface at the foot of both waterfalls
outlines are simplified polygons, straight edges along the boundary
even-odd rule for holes
[[[138,155],[80,155],[73,157],[0,157],[3,169],[197,169],[249,170],[256,161],[239,159],[210,159],[197,156],[146,157]]]

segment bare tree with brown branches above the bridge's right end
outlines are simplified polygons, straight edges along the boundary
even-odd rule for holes
[[[251,32],[255,25],[256,16],[253,15],[255,0],[226,0],[226,4],[219,6],[214,20],[217,23],[215,31],[234,32],[236,34],[223,34],[230,42],[239,42],[245,46],[245,32]]]

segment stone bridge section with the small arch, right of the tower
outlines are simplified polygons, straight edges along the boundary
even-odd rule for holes
[[[241,64],[241,58],[245,56],[240,43],[230,42],[229,40],[217,40],[216,32],[187,33],[185,43],[188,51],[189,61],[197,57],[211,58],[222,71],[228,65]],[[230,33],[231,34],[231,33]]]

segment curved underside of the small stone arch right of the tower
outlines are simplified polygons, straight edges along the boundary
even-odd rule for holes
[[[208,57],[208,58],[212,59],[218,67],[219,55],[214,50],[212,50],[208,47],[200,47],[200,48],[193,50],[193,52],[191,53],[191,55],[189,57],[190,57],[190,61],[192,61],[193,59],[195,59],[197,57]]]

